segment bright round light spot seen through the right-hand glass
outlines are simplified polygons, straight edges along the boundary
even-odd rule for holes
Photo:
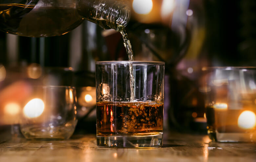
[[[252,111],[243,111],[237,121],[238,127],[243,129],[252,129],[256,125],[256,115]]]

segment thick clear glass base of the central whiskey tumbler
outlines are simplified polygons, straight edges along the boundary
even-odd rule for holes
[[[98,147],[158,148],[163,145],[163,134],[147,136],[98,136]]]

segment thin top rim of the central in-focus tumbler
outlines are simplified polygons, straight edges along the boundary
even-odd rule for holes
[[[105,64],[143,64],[143,65],[165,65],[162,61],[97,61],[96,65]]]

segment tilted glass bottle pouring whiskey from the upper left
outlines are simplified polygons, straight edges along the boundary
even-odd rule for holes
[[[116,0],[2,0],[0,30],[20,36],[65,34],[84,20],[104,29],[126,26],[130,8]]]

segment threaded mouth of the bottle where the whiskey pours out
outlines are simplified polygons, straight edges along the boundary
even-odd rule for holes
[[[111,12],[108,15],[108,26],[117,30],[119,26],[125,27],[130,21],[131,9],[125,3],[116,2],[112,6]]]

